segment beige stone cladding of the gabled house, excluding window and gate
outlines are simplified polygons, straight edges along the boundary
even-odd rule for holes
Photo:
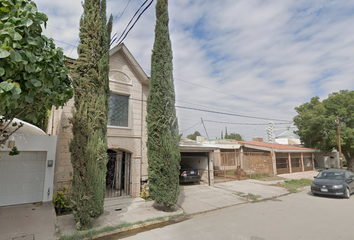
[[[147,152],[146,152],[146,99],[149,88],[143,85],[138,75],[120,51],[110,57],[110,69],[123,72],[124,81],[113,79],[110,89],[113,93],[130,96],[129,126],[108,126],[108,149],[131,154],[130,195],[140,196],[141,178],[147,178]],[[119,76],[119,74],[111,74]],[[129,82],[131,80],[131,82]],[[69,143],[73,137],[69,118],[72,117],[74,99],[71,99],[62,109],[58,128],[58,145],[55,166],[55,191],[60,187],[70,187],[72,178],[72,164],[70,159]]]

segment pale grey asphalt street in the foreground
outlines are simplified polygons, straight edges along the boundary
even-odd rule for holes
[[[353,210],[353,195],[349,200],[315,197],[308,187],[275,200],[195,215],[124,239],[352,240]]]

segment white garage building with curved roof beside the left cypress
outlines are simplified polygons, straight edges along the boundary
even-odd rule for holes
[[[0,148],[0,206],[51,201],[57,136],[14,121],[24,125]],[[13,146],[19,155],[9,155]]]

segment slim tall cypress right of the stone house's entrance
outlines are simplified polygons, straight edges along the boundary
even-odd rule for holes
[[[168,21],[168,1],[158,0],[147,102],[147,154],[150,195],[166,207],[178,201],[181,160]]]

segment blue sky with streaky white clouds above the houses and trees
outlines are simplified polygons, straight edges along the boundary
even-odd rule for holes
[[[76,58],[81,0],[35,2],[49,18],[44,34]],[[108,0],[108,14],[117,17],[113,33],[121,34],[142,2]],[[154,7],[124,41],[147,73]],[[210,138],[220,137],[227,127],[246,140],[266,139],[270,120],[260,118],[284,127],[289,124],[277,120],[291,121],[294,107],[311,97],[324,99],[332,92],[354,90],[350,0],[178,0],[170,1],[169,13],[176,105],[209,111],[177,108],[184,136],[194,131],[206,136],[199,123],[203,118]]]

